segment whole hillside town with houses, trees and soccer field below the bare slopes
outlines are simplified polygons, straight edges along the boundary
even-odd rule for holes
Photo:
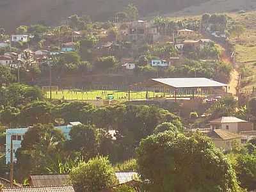
[[[0,192],[256,191],[243,24],[139,15],[0,28]]]

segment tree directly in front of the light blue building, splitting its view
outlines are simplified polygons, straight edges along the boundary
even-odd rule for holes
[[[60,154],[64,140],[63,133],[52,124],[30,127],[16,152],[18,176],[24,178],[29,173],[47,172],[49,159]]]

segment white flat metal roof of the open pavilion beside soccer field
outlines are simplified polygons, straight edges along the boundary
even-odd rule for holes
[[[163,83],[174,88],[197,88],[197,87],[221,87],[227,86],[227,84],[213,81],[204,77],[195,78],[163,78],[152,79],[158,83]]]

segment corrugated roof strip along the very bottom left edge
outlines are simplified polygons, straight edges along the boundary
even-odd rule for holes
[[[72,186],[3,188],[1,192],[74,192]]]

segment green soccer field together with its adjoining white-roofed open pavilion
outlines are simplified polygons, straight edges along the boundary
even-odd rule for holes
[[[145,99],[179,99],[207,97],[207,95],[225,94],[227,84],[207,79],[195,78],[160,78],[136,83],[122,90],[81,89],[59,90],[57,86],[44,87],[45,97],[62,100],[145,100]]]

